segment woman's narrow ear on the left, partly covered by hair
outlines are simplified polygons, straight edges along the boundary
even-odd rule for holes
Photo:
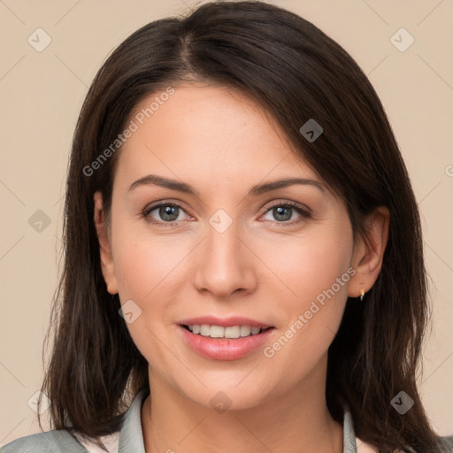
[[[95,226],[97,238],[99,240],[99,254],[101,256],[101,270],[104,275],[107,291],[111,294],[118,293],[118,282],[111,255],[111,241],[109,238],[108,228],[105,223],[105,212],[103,205],[103,195],[101,192],[96,192],[94,195],[95,201]]]

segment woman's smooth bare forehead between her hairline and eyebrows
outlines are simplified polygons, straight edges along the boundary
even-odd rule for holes
[[[147,96],[130,119],[118,177],[165,173],[212,184],[303,175],[315,177],[259,104],[226,87],[183,85]]]

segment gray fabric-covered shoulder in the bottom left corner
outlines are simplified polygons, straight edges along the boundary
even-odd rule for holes
[[[19,437],[1,449],[2,453],[38,453],[42,451],[46,453],[86,453],[87,449],[65,430]]]

